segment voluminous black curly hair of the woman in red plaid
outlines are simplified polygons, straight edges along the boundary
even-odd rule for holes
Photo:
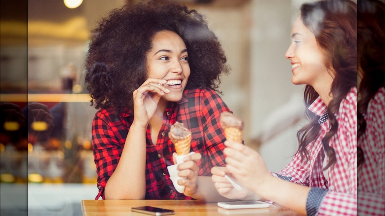
[[[113,107],[118,113],[132,110],[132,93],[147,79],[146,53],[160,31],[175,32],[186,44],[191,70],[186,89],[218,91],[220,75],[230,68],[203,16],[185,5],[150,0],[112,10],[93,30],[85,61],[91,106]]]

